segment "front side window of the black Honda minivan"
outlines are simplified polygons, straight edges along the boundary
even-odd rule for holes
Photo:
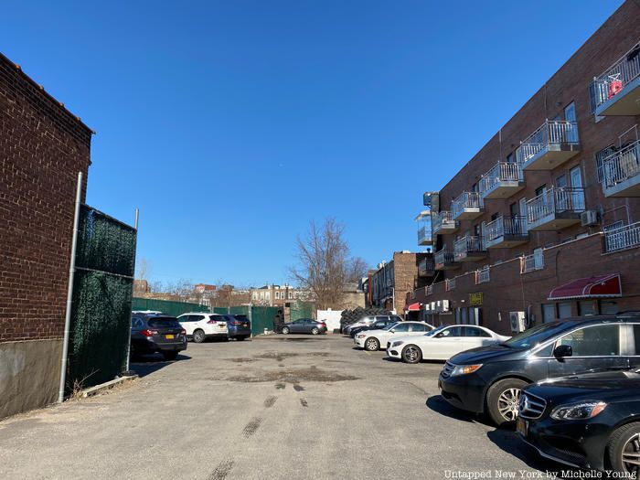
[[[563,336],[558,345],[569,345],[573,357],[611,357],[620,355],[618,325],[587,326]]]

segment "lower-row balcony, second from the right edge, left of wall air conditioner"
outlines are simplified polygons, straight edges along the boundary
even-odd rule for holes
[[[582,188],[551,187],[527,202],[527,226],[533,230],[559,230],[580,223],[585,210]]]

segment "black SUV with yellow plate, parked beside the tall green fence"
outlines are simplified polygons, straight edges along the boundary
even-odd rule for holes
[[[138,357],[160,353],[175,360],[187,349],[187,332],[175,316],[133,314],[131,318],[130,355]]]

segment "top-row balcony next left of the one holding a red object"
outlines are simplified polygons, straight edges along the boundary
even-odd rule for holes
[[[553,170],[580,153],[578,123],[546,121],[516,151],[523,170]]]

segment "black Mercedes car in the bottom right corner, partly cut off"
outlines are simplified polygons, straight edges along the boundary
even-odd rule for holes
[[[609,371],[529,386],[520,395],[517,432],[557,462],[637,478],[640,374]]]

